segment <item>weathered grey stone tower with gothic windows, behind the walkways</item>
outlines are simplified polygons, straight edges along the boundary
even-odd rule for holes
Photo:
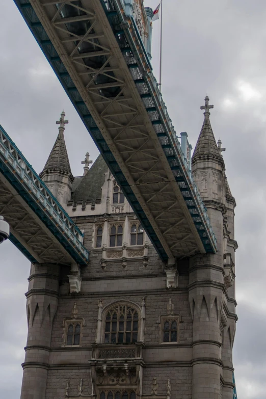
[[[192,165],[219,251],[178,260],[170,273],[126,199],[114,196],[101,157],[75,178],[64,206],[90,263],[32,265],[21,399],[232,399],[235,201],[208,110]],[[110,246],[112,226],[121,245]],[[70,294],[71,278],[80,289]],[[130,312],[136,325],[125,327]],[[79,326],[77,338],[69,326]]]

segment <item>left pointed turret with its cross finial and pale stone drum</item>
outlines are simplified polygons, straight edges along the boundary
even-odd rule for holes
[[[70,200],[71,185],[74,177],[71,172],[64,139],[65,124],[68,123],[65,120],[64,111],[56,123],[59,124],[58,137],[54,147],[52,147],[44,169],[40,173],[40,178],[46,183],[48,189],[54,194],[61,205],[65,206]]]

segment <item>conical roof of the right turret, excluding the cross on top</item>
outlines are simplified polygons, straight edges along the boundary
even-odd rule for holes
[[[218,151],[214,132],[212,131],[208,115],[205,115],[200,135],[192,156],[192,161],[196,156],[212,156],[222,159]]]

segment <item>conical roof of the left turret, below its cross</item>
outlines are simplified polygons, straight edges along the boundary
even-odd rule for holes
[[[72,175],[64,139],[64,131],[62,130],[58,134],[54,147],[52,147],[47,162],[40,175],[47,170],[60,170]]]

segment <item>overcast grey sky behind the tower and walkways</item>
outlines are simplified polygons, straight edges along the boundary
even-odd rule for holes
[[[153,9],[159,0],[146,0]],[[72,172],[97,149],[12,1],[0,0],[0,124],[39,173],[64,109]],[[236,199],[238,399],[266,397],[266,2],[165,0],[163,96],[177,132],[195,146],[206,93],[211,125],[222,140],[226,174]],[[152,65],[158,76],[159,21],[153,23]],[[26,342],[24,292],[30,264],[10,243],[0,248],[0,397],[20,396]]]

